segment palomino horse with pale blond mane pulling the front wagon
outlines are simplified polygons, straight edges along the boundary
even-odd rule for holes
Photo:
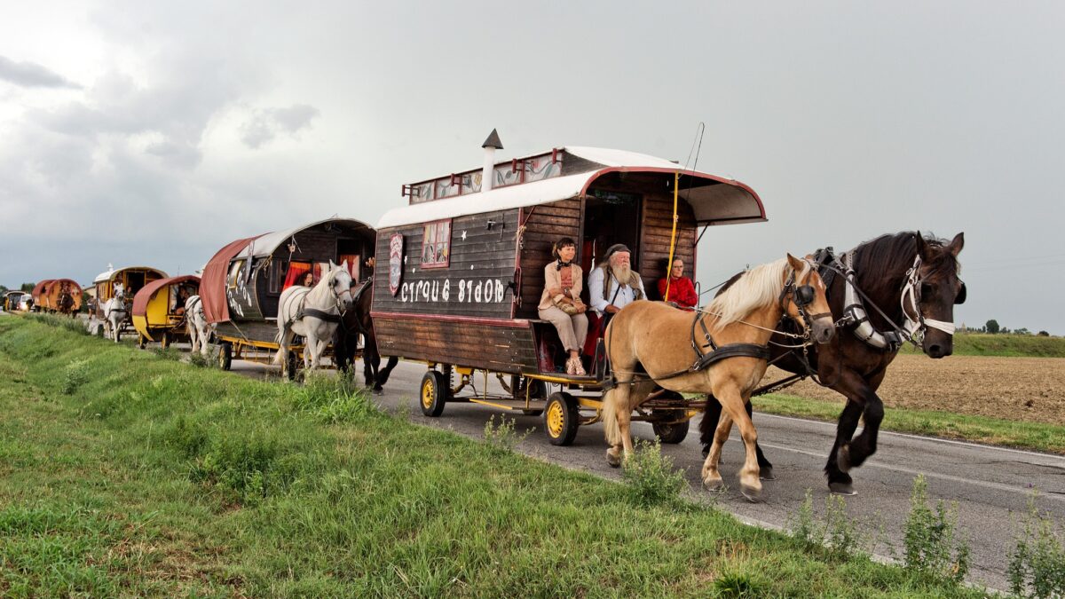
[[[766,344],[785,313],[818,343],[828,342],[835,331],[821,277],[810,262],[791,255],[744,273],[694,317],[657,302],[636,302],[618,312],[605,338],[617,384],[603,401],[603,423],[611,446],[607,462],[620,465],[621,451],[633,451],[633,409],[655,387],[712,393],[725,414],[703,465],[703,484],[711,489],[722,485],[718,460],[735,421],[747,448],[740,490],[756,501],[761,492],[754,450],[757,433],[744,404],[766,372]]]

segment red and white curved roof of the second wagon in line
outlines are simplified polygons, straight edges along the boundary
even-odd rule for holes
[[[374,228],[355,218],[323,218],[290,229],[272,231],[255,237],[239,239],[226,244],[203,266],[200,279],[200,300],[203,302],[203,314],[208,322],[218,323],[229,320],[229,303],[226,300],[226,276],[229,273],[229,262],[236,258],[259,258],[271,256],[284,245],[296,233],[311,227],[327,223],[338,223],[354,229],[374,232]]]

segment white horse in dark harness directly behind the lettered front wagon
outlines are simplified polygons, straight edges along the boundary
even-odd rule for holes
[[[340,266],[330,260],[329,273],[313,288],[293,286],[281,293],[274,363],[281,365],[282,375],[289,368],[289,346],[296,335],[307,340],[304,366],[308,370],[318,367],[322,353],[340,324],[340,315],[351,303],[351,275],[346,260]]]

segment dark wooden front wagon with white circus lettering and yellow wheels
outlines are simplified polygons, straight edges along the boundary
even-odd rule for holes
[[[485,176],[491,184],[482,188]],[[668,273],[674,242],[674,255],[693,270],[700,227],[766,220],[757,194],[738,181],[589,147],[502,164],[489,158],[484,168],[405,185],[404,194],[410,205],[378,224],[372,314],[380,353],[429,365],[420,393],[426,415],[456,401],[544,412],[556,444],[599,420],[602,387],[594,376],[559,372],[557,331],[539,320],[553,244],[573,238],[587,277],[607,247],[624,243],[650,298],[660,300],[655,284]],[[587,294],[586,285],[589,304]],[[490,374],[506,394],[488,391]],[[548,385],[558,391],[548,395]],[[663,395],[634,419],[679,442],[701,404]]]

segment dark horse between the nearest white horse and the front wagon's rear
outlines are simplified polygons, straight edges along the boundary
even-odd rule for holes
[[[374,279],[370,277],[351,291],[354,306],[344,312],[340,326],[333,333],[333,358],[337,360],[337,368],[341,372],[347,372],[349,365],[355,363],[355,352],[361,335],[362,374],[366,379],[366,387],[371,387],[374,393],[381,394],[392,369],[399,363],[399,358],[390,357],[388,365],[381,370],[381,354],[377,350],[374,320],[370,318],[370,305],[374,301],[373,285]]]

